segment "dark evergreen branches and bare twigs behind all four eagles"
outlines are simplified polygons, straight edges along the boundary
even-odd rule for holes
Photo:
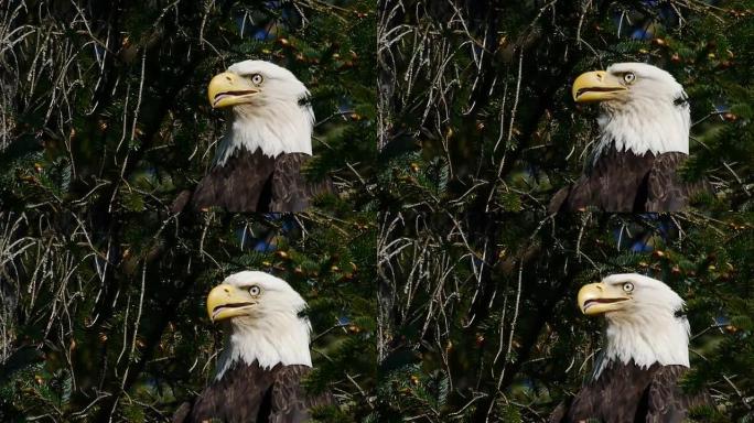
[[[320,421],[540,422],[599,348],[577,290],[627,271],[688,302],[685,387],[718,404],[697,421],[751,421],[753,9],[3,1],[0,421],[165,421],[209,381],[204,296],[241,269],[309,301],[306,384],[340,403]],[[249,57],[312,90],[308,175],[340,195],[297,216],[172,215],[224,131],[206,84]],[[683,175],[717,196],[672,216],[550,216],[596,135],[570,84],[626,61],[686,87]]]

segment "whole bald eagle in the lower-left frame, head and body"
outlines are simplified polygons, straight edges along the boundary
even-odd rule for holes
[[[286,281],[265,272],[236,273],[215,286],[207,313],[225,329],[215,379],[173,422],[298,423],[312,406],[333,404],[330,394],[308,395],[301,387],[312,369],[305,307]]]

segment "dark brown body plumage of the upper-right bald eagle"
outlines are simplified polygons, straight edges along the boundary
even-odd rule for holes
[[[688,158],[668,152],[634,154],[611,148],[600,154],[571,186],[560,189],[550,202],[550,213],[597,207],[612,213],[679,212],[692,195],[709,191],[705,183],[688,184],[676,170]]]

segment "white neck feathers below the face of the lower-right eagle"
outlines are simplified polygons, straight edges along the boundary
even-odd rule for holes
[[[612,361],[627,365],[634,360],[644,369],[655,362],[689,367],[690,327],[685,316],[676,316],[670,310],[655,310],[653,313],[607,313],[605,317],[606,347],[594,368],[595,380]]]

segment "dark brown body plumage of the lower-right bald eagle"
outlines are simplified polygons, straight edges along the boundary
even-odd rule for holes
[[[687,395],[678,379],[688,371],[683,366],[648,369],[611,362],[600,375],[581,388],[570,401],[550,415],[550,423],[681,423],[690,408],[711,404],[707,394]]]

